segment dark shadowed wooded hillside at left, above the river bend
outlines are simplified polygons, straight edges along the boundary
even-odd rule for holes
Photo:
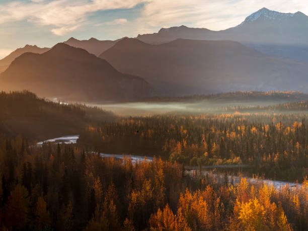
[[[30,92],[1,92],[0,105],[0,134],[29,140],[79,134],[87,125],[115,118],[98,108],[45,101]]]

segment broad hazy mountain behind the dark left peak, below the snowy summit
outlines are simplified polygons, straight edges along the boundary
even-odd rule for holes
[[[308,90],[308,66],[268,57],[235,41],[123,39],[100,55],[169,95]],[[168,95],[168,94],[165,94]]]

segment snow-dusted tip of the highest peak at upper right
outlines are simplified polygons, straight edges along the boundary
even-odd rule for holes
[[[296,13],[295,13],[296,14]],[[258,19],[263,19],[263,20],[284,20],[287,18],[292,18],[294,17],[295,14],[292,13],[280,13],[277,11],[270,11],[267,8],[262,8],[259,11],[251,14],[248,16],[244,23],[251,23],[254,22]]]

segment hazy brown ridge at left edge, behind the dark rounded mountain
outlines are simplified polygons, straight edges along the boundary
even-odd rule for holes
[[[36,45],[34,46],[26,45],[23,48],[18,48],[15,51],[13,51],[11,54],[9,54],[8,56],[0,60],[0,73],[5,71],[9,67],[11,62],[23,53],[32,52],[32,53],[41,54],[41,53],[48,51],[49,49],[50,48],[47,48],[47,47],[40,48]]]

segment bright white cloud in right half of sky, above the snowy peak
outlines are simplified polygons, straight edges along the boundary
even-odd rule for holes
[[[222,30],[240,24],[266,7],[280,12],[308,12],[306,0],[154,0],[144,5],[140,21],[149,27],[187,24]]]

